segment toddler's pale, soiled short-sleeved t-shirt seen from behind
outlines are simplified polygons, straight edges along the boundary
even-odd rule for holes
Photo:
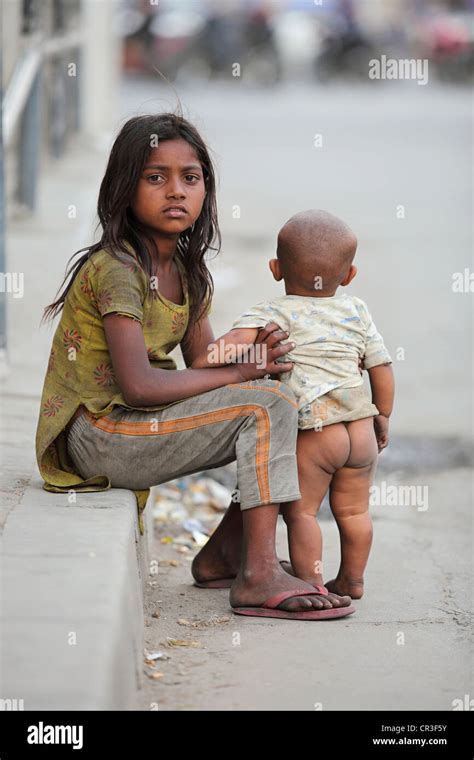
[[[276,322],[289,333],[288,340],[282,343],[296,343],[279,361],[294,362],[293,369],[283,372],[280,380],[296,396],[300,427],[317,399],[336,389],[357,389],[363,385],[360,360],[364,369],[392,361],[366,304],[355,296],[280,296],[247,309],[232,328],[264,327],[268,322]],[[344,395],[348,399],[348,419],[354,419],[350,414],[351,394]],[[360,392],[352,395],[354,405],[359,408]],[[370,397],[364,408],[367,416],[377,414]]]

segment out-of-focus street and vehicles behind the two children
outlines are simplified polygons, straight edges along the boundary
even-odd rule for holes
[[[36,325],[68,258],[96,237],[114,135],[134,114],[181,106],[220,178],[216,335],[283,292],[267,265],[279,227],[326,208],[360,241],[350,291],[395,359],[394,430],[469,435],[472,299],[452,282],[472,269],[472,9],[472,0],[5,0],[0,269],[25,273],[25,297],[7,293],[2,304],[7,388],[40,392],[52,332]],[[427,83],[370,79],[369,61],[382,56],[427,59]]]

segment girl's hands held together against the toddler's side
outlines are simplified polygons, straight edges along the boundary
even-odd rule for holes
[[[239,362],[235,365],[242,379],[256,380],[269,374],[279,375],[280,372],[290,372],[293,369],[293,362],[276,361],[295,347],[294,343],[280,345],[280,341],[285,338],[288,338],[288,333],[281,330],[275,322],[269,322],[259,330],[255,346],[261,346],[261,348],[256,349],[255,357],[252,356],[255,361]]]

